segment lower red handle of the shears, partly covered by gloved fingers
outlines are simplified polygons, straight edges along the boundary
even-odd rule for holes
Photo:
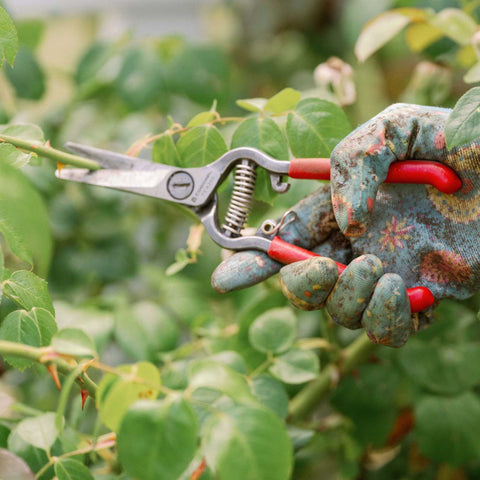
[[[288,265],[290,263],[299,262],[301,260],[308,260],[312,257],[319,257],[320,255],[305,250],[302,247],[297,247],[291,243],[287,243],[280,237],[275,237],[270,244],[267,252],[268,256],[277,262]],[[338,273],[342,273],[347,268],[342,263],[335,262],[338,267]],[[412,313],[421,312],[433,305],[435,298],[432,292],[426,287],[413,287],[407,289],[408,299],[410,301],[410,308]]]

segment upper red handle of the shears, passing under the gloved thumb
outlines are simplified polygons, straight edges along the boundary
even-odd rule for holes
[[[313,180],[330,180],[329,158],[294,158],[288,176]],[[455,193],[462,186],[457,174],[443,163],[430,160],[393,162],[386,183],[426,183],[443,193]]]

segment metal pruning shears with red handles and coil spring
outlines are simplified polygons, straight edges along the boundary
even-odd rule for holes
[[[284,182],[284,176],[329,180],[329,158],[283,161],[255,148],[241,147],[226,152],[204,167],[178,168],[76,143],[67,143],[66,147],[95,160],[101,169],[62,168],[56,171],[60,179],[181,204],[195,213],[214,242],[229,250],[259,250],[283,264],[318,256],[278,236],[282,227],[294,219],[292,211],[286,212],[279,222],[264,221],[255,235],[245,236],[242,231],[253,202],[257,168],[268,172],[275,192],[284,193],[290,186]],[[225,220],[220,225],[216,192],[232,171],[235,171],[233,191]],[[446,165],[424,160],[394,162],[385,181],[430,184],[446,194],[456,192],[462,185],[456,173]],[[340,263],[337,267],[339,273],[346,268]],[[433,294],[426,287],[409,288],[407,293],[412,313],[425,310],[434,303]]]

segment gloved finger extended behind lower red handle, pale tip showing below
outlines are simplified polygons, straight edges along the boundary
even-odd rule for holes
[[[283,240],[320,255],[337,253],[338,261],[345,261],[349,247],[339,238],[330,199],[329,185],[299,202],[292,209],[295,220],[281,230]],[[238,290],[260,283],[277,273],[282,265],[258,251],[245,251],[222,262],[212,275],[212,286],[220,293]]]

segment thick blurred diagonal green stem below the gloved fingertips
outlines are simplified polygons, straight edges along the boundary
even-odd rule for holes
[[[350,372],[362,360],[368,357],[377,347],[362,334],[340,353],[338,363],[330,363],[319,377],[305,386],[292,398],[289,417],[298,420],[308,415],[318,405],[322,396],[336,385],[336,378]]]

